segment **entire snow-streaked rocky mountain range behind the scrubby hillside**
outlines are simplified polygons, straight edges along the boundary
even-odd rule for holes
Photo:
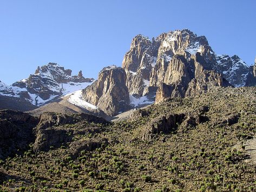
[[[82,111],[109,118],[168,98],[203,94],[214,87],[255,86],[255,68],[237,55],[216,54],[205,36],[188,29],[152,39],[137,35],[122,68],[106,67],[96,81],[84,78],[82,71],[72,76],[70,69],[49,63],[11,86],[1,83],[0,103],[2,108],[33,110],[33,114]],[[10,104],[13,102],[16,104]]]

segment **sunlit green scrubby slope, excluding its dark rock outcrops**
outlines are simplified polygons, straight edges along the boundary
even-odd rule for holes
[[[116,122],[102,127],[100,133],[74,135],[73,140],[107,138],[109,142],[107,147],[82,151],[74,160],[69,157],[69,143],[47,153],[30,150],[8,158],[0,171],[9,175],[9,181],[0,189],[253,191],[256,166],[245,163],[248,156],[242,145],[256,133],[255,98],[256,88],[218,88],[198,97],[151,105],[143,109],[148,117]],[[181,124],[172,133],[140,140],[145,124],[162,114],[193,112],[203,105],[209,107],[205,114],[209,121],[196,127]],[[238,123],[222,123],[232,114],[240,115]],[[235,144],[241,149],[235,149]]]

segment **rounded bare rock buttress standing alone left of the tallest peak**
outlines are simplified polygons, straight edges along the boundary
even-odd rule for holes
[[[114,116],[129,108],[126,72],[116,66],[104,68],[98,80],[82,91],[84,100]]]

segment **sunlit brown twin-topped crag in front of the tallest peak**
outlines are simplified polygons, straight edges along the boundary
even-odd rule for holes
[[[231,86],[215,70],[205,69],[206,61],[199,52],[191,57],[190,62],[183,56],[178,58],[174,56],[168,66],[165,81],[156,92],[156,104],[169,97],[190,97],[203,94],[212,87]]]

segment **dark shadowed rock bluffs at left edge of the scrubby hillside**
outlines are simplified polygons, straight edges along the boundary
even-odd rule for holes
[[[101,130],[99,127],[87,125],[90,122],[109,123],[101,117],[90,114],[70,116],[44,112],[40,117],[34,117],[24,112],[2,110],[0,111],[0,159],[22,153],[28,149],[30,143],[34,143],[35,152],[48,151],[51,146],[58,148],[63,143],[71,142],[74,135],[96,133]],[[74,124],[77,124],[75,129],[72,127]],[[65,125],[68,126],[63,127]],[[94,145],[91,147],[91,150],[93,149],[95,149]]]

